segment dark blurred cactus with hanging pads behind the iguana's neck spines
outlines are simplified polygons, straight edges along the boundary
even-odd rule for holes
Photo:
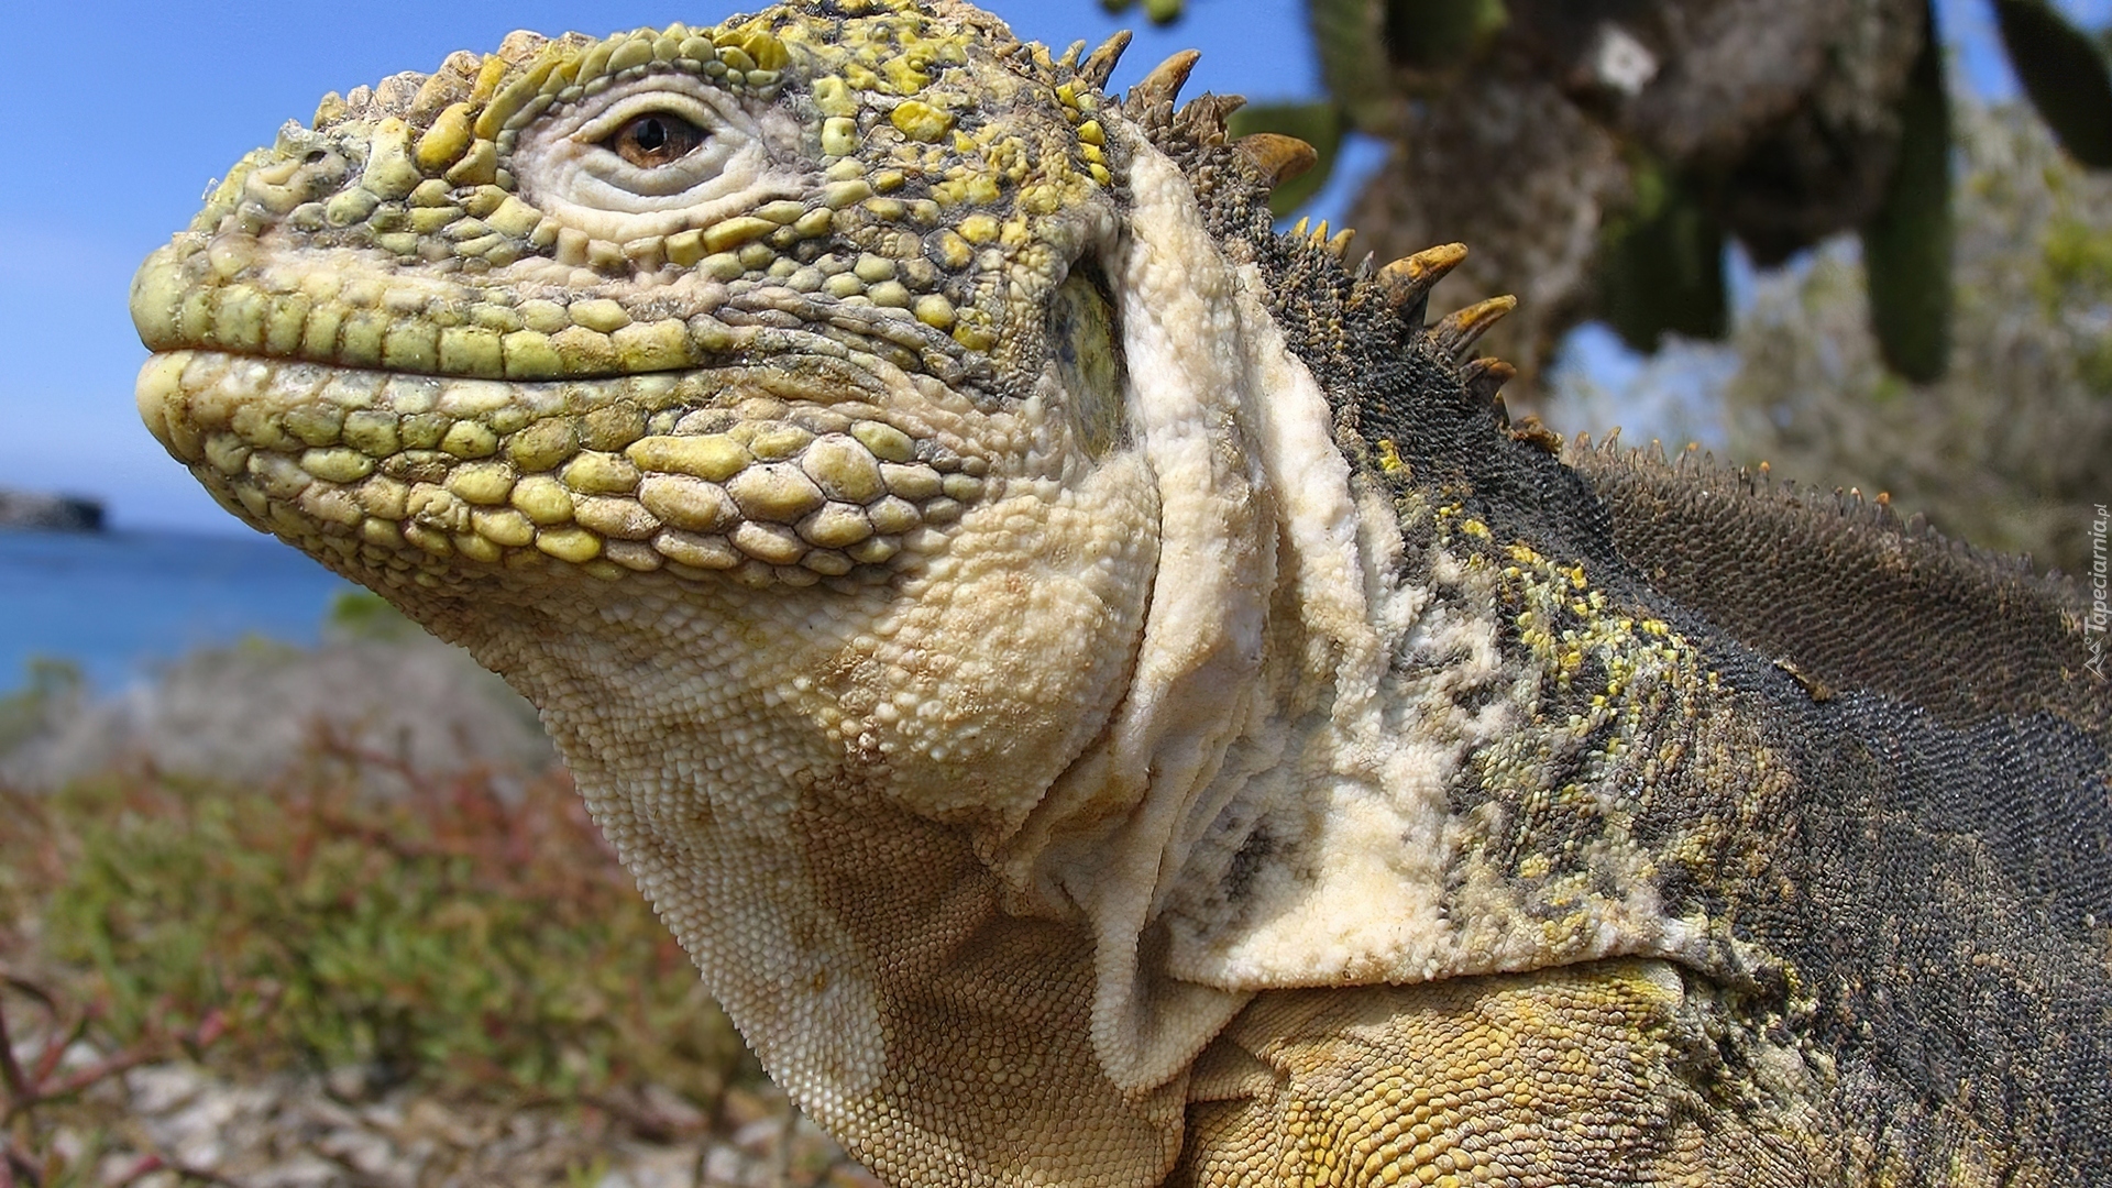
[[[2112,169],[2112,49],[2051,0],[1987,0],[2038,118]],[[1134,0],[1102,0],[1126,11]],[[1183,17],[1181,0],[1145,15]],[[1928,0],[1307,0],[1326,95],[1257,106],[1236,133],[1345,131],[1390,146],[1350,220],[1381,258],[1466,241],[1462,304],[1525,300],[1489,349],[1521,368],[1605,319],[1637,351],[1728,330],[1732,241],[1774,266],[1856,233],[1886,366],[1939,378],[1951,340],[1956,140]],[[1198,4],[1198,19],[1212,19]]]

